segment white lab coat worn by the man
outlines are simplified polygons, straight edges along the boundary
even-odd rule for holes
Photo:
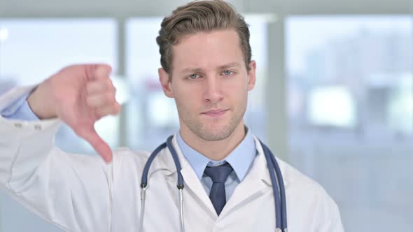
[[[0,96],[0,110],[27,93],[17,88]],[[176,168],[169,150],[153,161],[146,214],[139,222],[141,172],[150,152],[113,151],[113,162],[67,154],[53,144],[59,120],[22,122],[0,117],[0,183],[17,201],[64,231],[179,231]],[[219,217],[190,164],[173,140],[181,161],[187,232],[274,231],[274,198],[265,157],[259,154]],[[289,232],[342,232],[337,205],[323,188],[279,160],[286,187]]]

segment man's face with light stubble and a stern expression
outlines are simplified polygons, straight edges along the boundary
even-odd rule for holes
[[[159,70],[167,96],[174,98],[181,133],[223,140],[244,131],[248,90],[255,85],[255,61],[248,72],[235,30],[191,34],[173,47],[172,73]]]

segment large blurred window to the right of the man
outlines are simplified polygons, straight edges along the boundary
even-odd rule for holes
[[[346,231],[409,231],[412,18],[289,17],[286,42],[293,165],[335,199]]]

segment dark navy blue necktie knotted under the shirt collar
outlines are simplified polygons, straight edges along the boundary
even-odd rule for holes
[[[226,201],[225,197],[225,181],[228,178],[228,175],[232,172],[232,167],[230,164],[225,163],[221,166],[207,167],[205,168],[205,175],[211,177],[212,187],[209,192],[209,198],[212,201],[212,205],[218,215],[224,208]]]

